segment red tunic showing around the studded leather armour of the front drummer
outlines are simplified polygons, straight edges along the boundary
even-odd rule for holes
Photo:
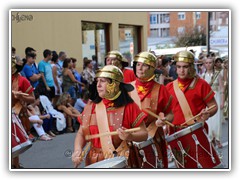
[[[112,101],[103,99],[103,103],[106,106],[107,113],[116,111],[116,108],[112,108],[113,107]],[[93,104],[92,114],[96,114],[95,107],[96,107],[96,104]],[[84,113],[85,112],[83,111],[83,115]],[[139,127],[146,117],[147,116],[139,109],[136,103],[129,103],[124,108],[122,126],[127,129]],[[82,120],[80,119],[80,116],[78,117],[78,121],[82,125]],[[114,131],[113,126],[109,126],[109,129],[110,131]],[[90,125],[89,130],[91,135],[99,134],[97,125]],[[92,144],[93,144],[93,147],[101,148],[100,138],[92,139]]]

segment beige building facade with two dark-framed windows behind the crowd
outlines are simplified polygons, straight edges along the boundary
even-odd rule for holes
[[[95,55],[103,66],[110,50],[119,50],[129,61],[147,50],[148,12],[11,11],[11,20],[11,46],[22,58],[25,48],[33,47],[37,62],[45,49],[65,51],[82,70],[84,57]]]

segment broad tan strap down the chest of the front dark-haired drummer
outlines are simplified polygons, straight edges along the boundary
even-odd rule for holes
[[[110,132],[108,118],[107,118],[107,110],[103,102],[96,104],[96,119],[99,133]],[[102,145],[104,158],[113,157],[113,152],[115,148],[113,146],[112,137],[111,136],[102,136],[100,137],[100,142]]]

